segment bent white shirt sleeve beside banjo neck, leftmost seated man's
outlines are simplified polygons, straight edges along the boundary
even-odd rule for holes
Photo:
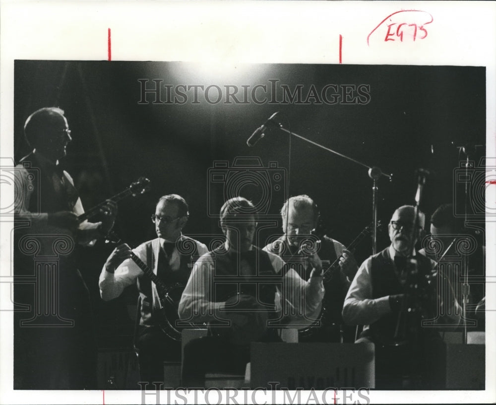
[[[145,246],[145,244],[142,244],[132,250],[144,263],[147,260]],[[114,273],[105,270],[104,266],[98,282],[100,296],[104,301],[110,301],[119,297],[124,291],[124,288],[132,285],[141,274],[143,274],[143,270],[132,259],[124,260]]]

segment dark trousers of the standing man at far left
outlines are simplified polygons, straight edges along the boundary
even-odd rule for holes
[[[88,289],[79,271],[69,267],[63,268],[59,280],[58,314],[73,321],[72,326],[20,326],[32,314],[14,312],[16,390],[97,388],[98,351]],[[32,289],[29,284],[14,284],[15,301],[34,308]]]

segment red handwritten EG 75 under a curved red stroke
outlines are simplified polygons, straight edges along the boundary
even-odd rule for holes
[[[400,14],[402,13],[402,14]],[[398,15],[400,14],[400,15]],[[394,18],[393,18],[394,16]],[[389,22],[383,26],[384,22],[389,20]],[[393,21],[395,20],[395,21]],[[385,32],[384,42],[387,41],[398,41],[403,42],[403,39],[411,37],[413,42],[417,39],[424,39],[427,37],[427,30],[424,28],[425,25],[430,24],[434,21],[434,18],[427,11],[422,10],[401,10],[396,11],[386,18],[384,18],[379,25],[377,25],[367,37],[367,45],[370,46],[369,40],[371,35],[378,28],[383,28]],[[387,26],[387,32],[385,27]],[[380,30],[379,30],[380,31]],[[417,36],[418,31],[422,31],[422,36]]]

